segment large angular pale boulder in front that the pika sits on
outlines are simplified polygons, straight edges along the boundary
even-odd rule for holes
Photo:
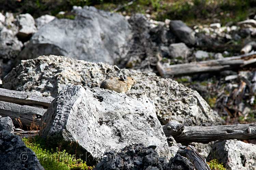
[[[155,105],[145,97],[131,98],[108,89],[68,84],[40,124],[40,136],[46,142],[61,143],[67,151],[69,144],[75,143],[76,154],[84,154],[88,163],[102,158],[104,152],[139,143],[155,145],[159,156],[171,157]]]

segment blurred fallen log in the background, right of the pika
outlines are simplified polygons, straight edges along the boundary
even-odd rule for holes
[[[170,77],[173,75],[188,75],[202,72],[218,72],[234,68],[242,68],[252,63],[256,63],[256,52],[239,56],[226,57],[218,60],[207,60],[169,66],[163,66],[159,62],[157,65],[157,70],[161,77]]]

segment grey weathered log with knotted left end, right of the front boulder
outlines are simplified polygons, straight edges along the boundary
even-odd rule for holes
[[[256,124],[233,124],[219,126],[185,126],[169,122],[162,126],[166,137],[172,136],[177,143],[209,143],[216,140],[256,139]]]

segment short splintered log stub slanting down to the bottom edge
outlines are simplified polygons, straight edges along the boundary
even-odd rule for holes
[[[181,147],[177,153],[186,157],[194,165],[196,170],[211,170],[206,160],[198,153],[195,147],[191,145]]]

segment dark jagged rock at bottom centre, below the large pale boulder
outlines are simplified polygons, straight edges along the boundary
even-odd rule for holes
[[[167,160],[159,157],[155,148],[156,146],[133,145],[120,152],[107,152],[94,170],[166,170]]]

